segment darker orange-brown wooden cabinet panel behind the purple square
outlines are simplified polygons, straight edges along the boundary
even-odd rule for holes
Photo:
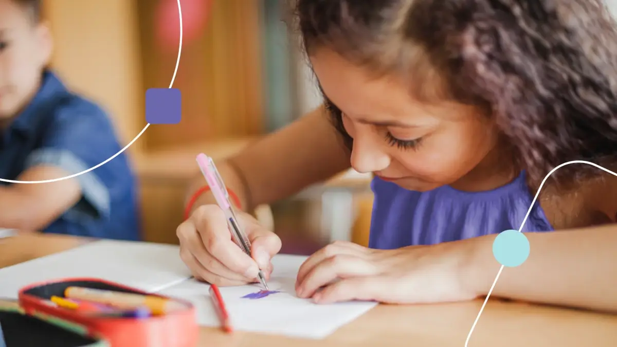
[[[167,88],[178,56],[175,41],[157,35],[165,2],[171,22],[178,13],[175,1],[137,0],[144,88]],[[173,85],[182,91],[182,122],[151,127],[144,140],[149,150],[263,133],[260,1],[202,0],[198,9],[206,17],[189,13],[194,2],[184,2],[186,33]],[[193,33],[192,21],[200,19],[205,25]]]

